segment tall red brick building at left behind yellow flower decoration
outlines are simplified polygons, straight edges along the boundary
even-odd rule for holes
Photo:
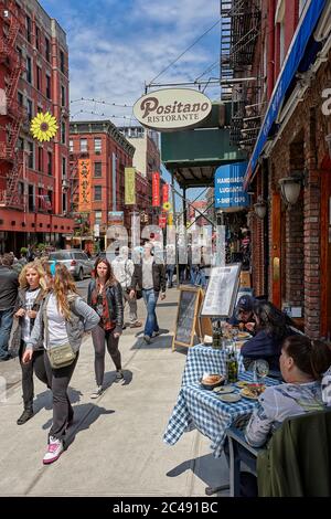
[[[64,246],[72,234],[66,35],[36,0],[0,2],[0,252],[28,243]],[[30,121],[55,116],[58,131],[38,142]],[[67,188],[68,186],[68,188]]]

